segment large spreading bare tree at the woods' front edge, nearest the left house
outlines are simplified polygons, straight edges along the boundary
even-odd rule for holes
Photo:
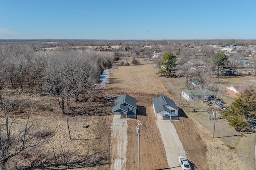
[[[60,51],[56,52],[54,59],[45,69],[42,90],[53,97],[62,113],[65,113],[65,100],[69,96],[94,89],[101,69],[100,59],[94,54],[85,51]],[[95,62],[98,60],[98,63]]]

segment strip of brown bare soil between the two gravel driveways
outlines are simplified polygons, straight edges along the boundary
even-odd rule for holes
[[[154,120],[154,113],[147,111],[147,116],[138,115],[140,127],[140,169],[168,168],[168,161],[160,132]],[[127,169],[135,170],[138,167],[138,133],[136,120],[128,120],[128,148]]]

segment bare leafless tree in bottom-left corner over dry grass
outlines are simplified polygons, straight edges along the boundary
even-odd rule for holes
[[[34,133],[33,122],[30,121],[32,106],[24,124],[21,124],[10,118],[10,112],[13,109],[16,98],[1,98],[0,97],[0,117],[4,117],[6,136],[0,138],[0,169],[6,169],[8,160],[20,154],[24,150],[31,147],[38,147],[40,140],[36,138]],[[19,128],[18,133],[15,133],[12,125],[16,124]]]

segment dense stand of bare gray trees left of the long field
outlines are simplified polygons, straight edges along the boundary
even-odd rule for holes
[[[115,60],[114,54],[90,49],[36,51],[28,44],[0,45],[0,88],[50,95],[65,113],[64,100],[77,102],[80,94],[94,90]]]

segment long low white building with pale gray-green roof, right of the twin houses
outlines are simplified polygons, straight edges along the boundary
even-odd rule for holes
[[[181,90],[181,95],[188,101],[210,100],[216,96],[216,93],[210,90],[194,89],[194,90]]]

